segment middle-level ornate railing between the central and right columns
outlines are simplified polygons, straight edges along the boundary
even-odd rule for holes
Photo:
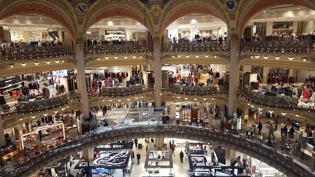
[[[164,87],[164,90],[169,90],[177,94],[194,94],[194,95],[210,95],[217,93],[228,93],[228,85],[218,86],[185,86],[177,84],[169,84]]]

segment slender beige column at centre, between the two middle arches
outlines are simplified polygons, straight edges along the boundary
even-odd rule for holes
[[[160,43],[154,43],[154,89],[155,89],[155,107],[162,107],[161,90],[162,90],[162,65],[161,65],[161,47]]]

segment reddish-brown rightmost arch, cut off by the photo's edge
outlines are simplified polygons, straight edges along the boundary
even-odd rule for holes
[[[302,1],[302,0],[265,0],[265,1],[253,1],[253,3],[250,4],[250,6],[240,4],[239,7],[247,7],[244,8],[245,12],[242,12],[240,10],[239,18],[240,20],[237,24],[239,24],[239,38],[242,36],[242,33],[244,32],[246,25],[249,23],[249,21],[258,13],[280,5],[297,5],[297,6],[303,6],[307,7],[309,9],[315,10],[315,4],[311,3],[310,1]]]

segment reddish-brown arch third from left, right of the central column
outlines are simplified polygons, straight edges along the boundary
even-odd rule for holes
[[[186,3],[186,2],[185,2]],[[214,7],[211,7],[211,5],[206,5],[206,4],[201,4],[198,2],[195,3],[187,3],[187,4],[182,4],[180,6],[176,6],[172,3],[169,3],[165,10],[163,10],[164,14],[161,18],[161,24],[160,24],[160,38],[163,35],[164,30],[174,21],[181,17],[185,17],[190,14],[207,14],[207,15],[212,15],[215,16],[219,19],[221,19],[223,22],[226,23],[227,27],[229,24],[227,23],[227,17],[223,13],[223,8],[220,9],[220,5],[214,3]],[[171,9],[170,9],[171,8]],[[176,10],[174,10],[176,9]],[[219,12],[221,10],[221,12]],[[171,12],[171,13],[166,13],[166,12]]]

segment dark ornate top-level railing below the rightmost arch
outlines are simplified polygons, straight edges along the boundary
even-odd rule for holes
[[[314,41],[250,41],[243,42],[241,49],[252,52],[301,53],[314,50]]]

